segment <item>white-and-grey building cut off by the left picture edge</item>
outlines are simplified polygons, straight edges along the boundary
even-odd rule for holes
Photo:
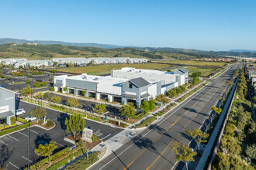
[[[0,124],[11,124],[18,103],[16,95],[16,92],[0,87]]]

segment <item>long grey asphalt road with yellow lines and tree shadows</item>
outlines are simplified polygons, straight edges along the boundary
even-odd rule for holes
[[[229,67],[216,80],[171,110],[157,124],[147,127],[112,155],[103,159],[92,169],[182,169],[177,163],[171,146],[176,142],[189,145],[192,140],[185,130],[198,129],[223,91],[225,81],[233,76],[234,66]]]

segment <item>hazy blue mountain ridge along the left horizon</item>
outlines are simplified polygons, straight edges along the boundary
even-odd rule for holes
[[[45,44],[45,45],[61,44],[61,45],[66,45],[66,46],[92,46],[92,47],[98,47],[98,48],[102,48],[102,49],[114,49],[114,48],[121,48],[121,47],[132,47],[132,46],[116,46],[116,45],[111,45],[111,44],[97,44],[97,43],[41,41],[41,40],[9,39],[9,38],[0,39],[0,44],[7,44],[7,43],[23,44],[23,43],[28,43],[28,42],[30,42],[30,43],[38,43],[38,44]]]

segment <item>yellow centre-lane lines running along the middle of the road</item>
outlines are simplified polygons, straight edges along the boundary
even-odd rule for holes
[[[221,79],[221,80],[223,80],[223,79]],[[220,81],[221,81],[221,80],[219,80],[216,84],[220,83]],[[223,85],[223,84],[222,84],[222,85]],[[221,86],[222,86],[222,85],[221,85]],[[211,87],[211,88],[210,88],[210,90],[209,90],[209,91],[207,91],[207,93],[209,93],[212,89],[213,89],[213,87]],[[195,104],[197,104],[197,103],[198,103],[198,102],[199,102],[203,97],[205,97],[207,93],[205,93],[205,94],[204,94],[204,95],[203,95],[199,100],[197,100],[197,101],[195,102]],[[216,93],[216,92],[215,92],[215,93]],[[213,94],[215,94],[215,93],[213,93]],[[207,103],[208,103],[208,101],[207,101]],[[207,103],[206,103],[206,104],[207,104]],[[194,106],[195,106],[195,104],[193,104],[193,105],[192,105],[192,107],[194,107]],[[191,109],[192,109],[192,107],[190,107],[190,108],[189,108],[189,110],[191,110]],[[203,107],[204,107],[204,106],[203,106]],[[201,108],[201,109],[202,109],[202,108]],[[200,110],[201,110],[201,109],[200,109]],[[179,121],[183,116],[185,116],[185,114],[187,114],[187,113],[189,112],[189,110],[185,111],[185,113],[184,113],[184,114],[182,114],[182,116],[181,116],[181,117],[178,117],[178,120],[177,120],[177,121],[175,121],[175,123],[171,124],[171,126],[170,126],[168,129],[166,129],[162,134],[160,134],[160,135],[159,135],[159,137],[158,137],[158,138],[156,138],[156,139],[153,141],[153,144],[154,144],[156,141],[158,141],[158,140],[159,140],[159,138],[161,138],[161,136],[162,136],[166,131],[168,131],[171,127],[173,127],[173,126],[174,126],[174,125],[175,125],[175,124],[176,124],[176,123],[177,123],[177,122],[178,122],[178,121]],[[195,117],[195,116],[194,116],[194,117]],[[191,121],[192,121],[192,120],[191,120]],[[190,122],[190,121],[189,121],[189,122]],[[176,137],[175,137],[175,138],[176,138]],[[169,143],[169,144],[170,144],[170,143]],[[170,144],[170,145],[171,145],[171,144]],[[166,150],[166,149],[165,149],[165,150]],[[164,151],[165,151],[165,150],[164,150]],[[147,151],[147,148],[145,148],[145,149],[144,149],[144,151]],[[142,154],[144,153],[144,151],[141,151],[141,152],[140,152],[140,155],[142,155]],[[135,160],[137,160],[137,158],[139,158],[139,157],[140,157],[140,155],[137,155],[137,157],[136,157],[136,158],[134,158],[134,159],[133,159],[133,161],[132,161],[132,162],[130,162],[130,164],[129,164],[129,165],[126,165],[126,168],[129,168],[129,167],[130,167],[130,165],[132,165],[132,164],[133,164],[133,162],[134,162]],[[159,156],[158,156],[158,158],[159,158],[160,156],[161,156],[161,155],[159,155]],[[157,158],[157,159],[158,159],[158,158]],[[156,162],[156,161],[157,161],[157,159],[156,159],[154,162]],[[153,162],[153,164],[154,164],[154,162]],[[152,164],[152,165],[153,165],[153,164]],[[152,165],[150,165],[150,167],[151,167]],[[126,168],[123,168],[123,170],[125,170]]]

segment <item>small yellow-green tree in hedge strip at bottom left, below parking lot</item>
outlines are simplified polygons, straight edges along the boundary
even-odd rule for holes
[[[48,164],[50,163],[50,155],[53,154],[53,151],[57,148],[57,145],[55,145],[55,141],[51,141],[50,144],[46,145],[39,145],[38,148],[35,149],[36,155],[38,156],[47,156],[48,157]]]

